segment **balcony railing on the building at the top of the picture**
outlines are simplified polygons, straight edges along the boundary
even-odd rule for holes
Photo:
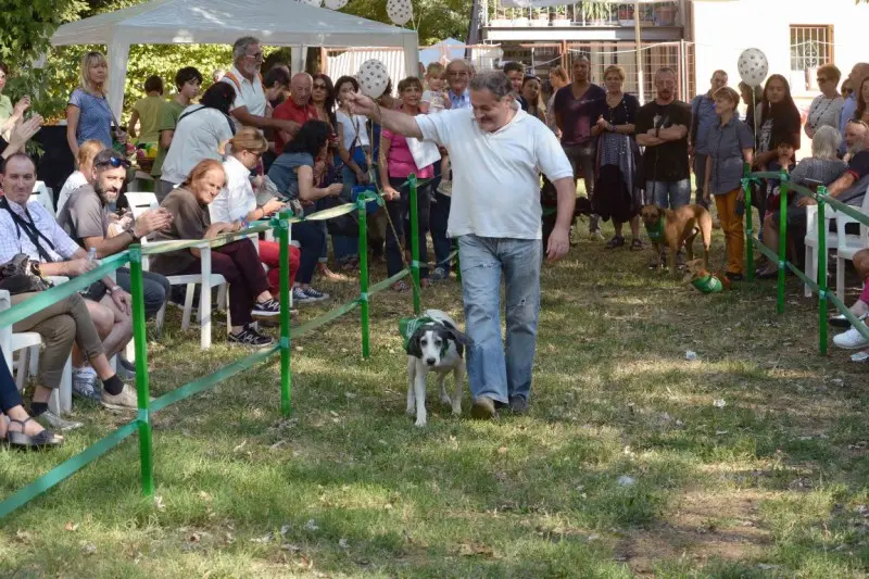
[[[571,27],[571,26],[634,26],[635,17],[643,26],[681,26],[679,7],[681,2],[662,1],[640,4],[634,14],[634,4],[608,4],[601,2],[576,2],[543,8],[505,8],[500,0],[490,0],[483,11],[483,26],[491,28]]]

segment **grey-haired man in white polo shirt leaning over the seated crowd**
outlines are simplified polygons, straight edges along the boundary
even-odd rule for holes
[[[232,67],[222,78],[236,89],[236,100],[229,114],[242,126],[256,128],[277,128],[295,133],[299,124],[292,121],[266,116],[265,89],[260,67],[263,65],[263,50],[260,40],[244,36],[232,45]]]

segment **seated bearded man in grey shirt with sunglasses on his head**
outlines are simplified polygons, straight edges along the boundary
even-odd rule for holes
[[[114,149],[104,149],[97,153],[88,182],[70,194],[70,200],[58,215],[58,225],[66,235],[85,250],[96,248],[98,257],[119,253],[133,243],[139,243],[141,238],[166,229],[172,224],[172,214],[164,209],[156,209],[144,212],[128,225],[123,224],[117,235],[110,235],[109,226],[113,215],[109,205],[121,193],[127,177],[127,167],[129,162]],[[119,268],[115,278],[124,291],[131,291],[128,267]],[[153,316],[166,302],[171,286],[164,276],[151,272],[142,272],[142,280],[144,314]]]

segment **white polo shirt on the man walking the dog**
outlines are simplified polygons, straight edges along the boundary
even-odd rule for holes
[[[494,133],[480,130],[471,109],[415,118],[425,139],[450,152],[450,237],[541,239],[540,171],[552,181],[574,176],[546,125],[525,111]]]

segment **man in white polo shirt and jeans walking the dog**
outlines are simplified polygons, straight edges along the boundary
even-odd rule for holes
[[[555,230],[546,255],[567,254],[576,186],[570,162],[552,131],[519,110],[500,71],[470,80],[471,109],[410,116],[381,109],[362,95],[350,97],[355,112],[385,128],[445,147],[453,163],[449,232],[458,238],[468,347],[471,415],[496,416],[528,407],[537,347],[542,261],[540,176],[558,193]],[[506,295],[506,357],[501,341],[500,289]]]

